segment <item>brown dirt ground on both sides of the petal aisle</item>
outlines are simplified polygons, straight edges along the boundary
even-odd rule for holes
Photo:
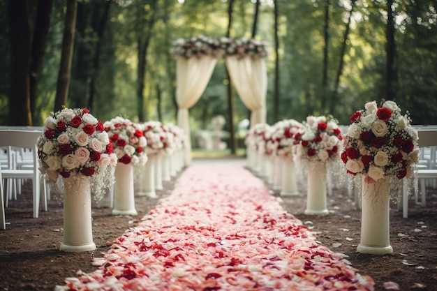
[[[204,161],[205,162],[205,161]],[[211,161],[207,161],[211,162]],[[214,163],[214,161],[212,161]],[[32,218],[29,187],[6,209],[6,230],[0,230],[0,290],[53,290],[64,285],[64,279],[75,276],[78,270],[91,272],[93,257],[101,257],[112,241],[140,217],[154,209],[162,197],[170,195],[174,181],[164,182],[158,198],[135,197],[138,216],[112,216],[105,198],[92,208],[96,251],[64,253],[59,251],[62,241],[63,210],[56,200],[49,201],[49,210]],[[410,199],[409,217],[402,218],[396,204],[390,210],[390,255],[356,253],[360,242],[361,211],[353,204],[346,188],[334,188],[328,197],[327,216],[306,216],[306,186],[299,183],[301,195],[281,197],[284,209],[294,214],[312,231],[320,244],[332,251],[348,255],[347,260],[362,275],[371,276],[375,290],[387,290],[394,282],[398,290],[437,290],[437,191],[430,188],[427,205],[421,207]],[[272,195],[278,196],[277,191]],[[384,285],[386,283],[386,285]]]

